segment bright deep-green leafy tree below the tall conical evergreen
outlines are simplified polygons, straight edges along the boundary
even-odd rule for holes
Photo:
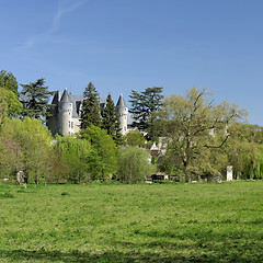
[[[90,126],[80,132],[80,138],[91,144],[92,151],[88,157],[88,165],[92,180],[107,180],[117,169],[117,148],[105,129]]]

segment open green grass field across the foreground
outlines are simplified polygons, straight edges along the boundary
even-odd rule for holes
[[[263,262],[263,182],[0,185],[0,262]]]

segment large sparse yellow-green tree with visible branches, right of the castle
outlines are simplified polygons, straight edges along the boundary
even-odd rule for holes
[[[205,89],[193,88],[186,96],[167,98],[155,123],[169,138],[168,155],[181,158],[183,173],[188,180],[191,170],[202,171],[204,164],[209,169],[210,151],[222,147],[231,136],[228,127],[245,116],[245,111],[238,110],[235,104],[214,105],[208,94]]]

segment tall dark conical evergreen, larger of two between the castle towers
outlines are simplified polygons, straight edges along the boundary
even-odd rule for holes
[[[101,127],[101,110],[99,93],[90,82],[83,93],[84,100],[80,114],[80,128],[85,129],[91,125]]]

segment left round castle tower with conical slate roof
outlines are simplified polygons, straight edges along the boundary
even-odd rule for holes
[[[69,100],[67,88],[58,103],[58,133],[64,135],[71,134],[72,103]]]

